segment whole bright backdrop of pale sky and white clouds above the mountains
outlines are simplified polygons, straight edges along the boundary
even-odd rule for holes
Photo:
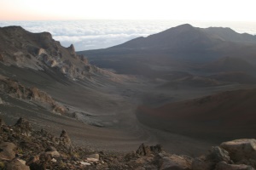
[[[0,0],[0,26],[48,31],[77,51],[108,48],[173,26],[256,35],[256,0]]]

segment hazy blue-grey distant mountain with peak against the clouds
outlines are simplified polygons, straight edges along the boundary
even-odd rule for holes
[[[226,56],[230,56],[230,60],[245,60],[254,67],[256,36],[239,34],[230,28],[198,28],[185,24],[148,37],[137,37],[112,48],[81,51],[78,54],[84,54],[94,65],[118,73],[146,77],[168,72],[166,69],[155,70],[155,66],[169,67],[170,71],[188,71],[217,59],[221,61]],[[243,62],[236,64],[244,65]],[[222,70],[220,65],[218,67]],[[244,66],[237,68],[241,67]]]

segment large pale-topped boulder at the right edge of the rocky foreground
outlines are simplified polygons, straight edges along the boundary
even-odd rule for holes
[[[256,139],[236,139],[220,144],[220,147],[230,153],[231,160],[256,160]]]

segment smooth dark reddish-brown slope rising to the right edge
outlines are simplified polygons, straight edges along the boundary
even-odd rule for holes
[[[158,108],[140,106],[140,122],[172,133],[208,140],[253,138],[256,89],[212,94]]]

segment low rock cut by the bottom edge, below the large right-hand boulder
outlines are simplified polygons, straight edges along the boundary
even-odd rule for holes
[[[235,164],[228,164],[225,161],[220,161],[216,165],[215,170],[254,170],[254,168],[244,164],[235,165]]]

